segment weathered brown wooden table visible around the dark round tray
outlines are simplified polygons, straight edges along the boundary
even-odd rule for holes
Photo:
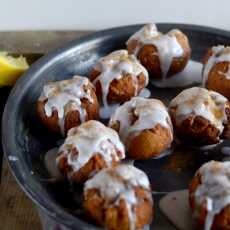
[[[0,51],[24,54],[30,62],[64,43],[88,34],[88,31],[0,32]],[[41,230],[38,213],[20,189],[3,160],[0,185],[0,229]]]

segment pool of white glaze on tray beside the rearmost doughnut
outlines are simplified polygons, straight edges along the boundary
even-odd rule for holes
[[[167,80],[153,80],[151,83],[159,88],[176,88],[201,84],[202,67],[200,62],[190,60],[182,72],[171,76]]]

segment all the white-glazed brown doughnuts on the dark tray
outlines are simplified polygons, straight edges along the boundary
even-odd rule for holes
[[[109,230],[143,229],[153,215],[147,175],[123,159],[158,158],[178,140],[205,146],[230,138],[229,47],[206,54],[206,88],[184,89],[166,107],[141,91],[149,78],[167,81],[184,70],[191,55],[187,36],[147,24],[126,45],[100,58],[89,76],[45,84],[37,101],[41,122],[65,137],[58,170],[71,184],[83,185],[86,213]],[[190,184],[191,209],[205,229],[230,229],[229,167],[206,163]]]

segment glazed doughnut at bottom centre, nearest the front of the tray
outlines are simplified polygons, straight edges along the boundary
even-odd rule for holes
[[[148,177],[131,165],[103,169],[85,183],[84,207],[108,230],[143,229],[153,216]]]

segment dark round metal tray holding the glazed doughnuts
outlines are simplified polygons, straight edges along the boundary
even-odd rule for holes
[[[70,229],[98,229],[82,215],[78,199],[67,184],[52,183],[44,167],[44,154],[57,146],[60,137],[44,129],[36,119],[34,103],[42,86],[49,80],[88,74],[99,57],[125,48],[125,41],[142,25],[109,29],[74,41],[41,58],[17,82],[5,107],[2,121],[3,149],[10,167],[27,195],[51,218]],[[230,33],[207,27],[183,24],[158,24],[166,32],[181,29],[190,40],[192,59],[201,61],[207,48],[229,45]],[[149,85],[152,97],[166,104],[182,88],[159,89]],[[161,159],[135,161],[149,176],[154,191],[156,215],[151,228],[174,229],[158,209],[158,200],[167,192],[188,187],[195,170],[205,161],[222,159],[221,145],[209,151],[189,146],[173,146],[173,154]]]

